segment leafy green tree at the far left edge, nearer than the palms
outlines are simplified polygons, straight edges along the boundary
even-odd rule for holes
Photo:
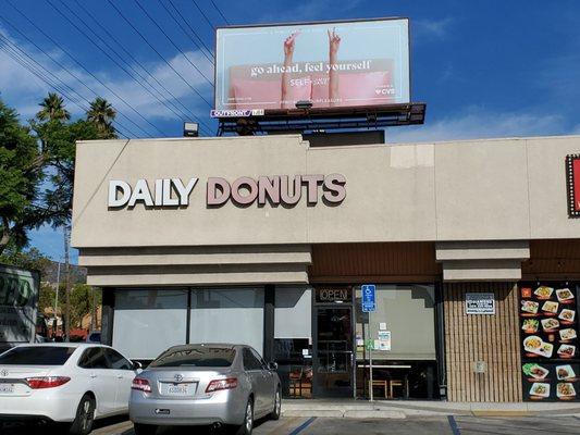
[[[44,163],[30,129],[0,100],[0,254],[9,245],[25,246],[26,232],[46,219],[46,210],[37,204]]]

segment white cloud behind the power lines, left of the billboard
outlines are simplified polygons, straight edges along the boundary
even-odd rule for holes
[[[9,37],[5,30],[0,28],[0,32],[5,37]],[[143,126],[147,130],[151,128],[138,116],[131,108],[124,104],[113,92],[103,87],[97,79],[87,74],[84,70],[77,67],[71,62],[64,53],[59,51],[52,51],[50,54],[57,59],[65,69],[62,69],[54,62],[52,62],[45,54],[39,52],[36,48],[27,45],[18,44],[17,40],[11,38],[11,41],[16,45],[21,50],[25,51],[30,58],[39,62],[49,74],[59,77],[65,85],[74,89],[76,92],[83,96],[86,100],[92,100],[95,94],[89,89],[94,89],[95,92],[106,99],[124,115],[132,119],[135,123]],[[206,77],[212,79],[213,66],[207,61],[203,55],[198,51],[186,52],[190,61],[200,69]],[[190,63],[183,58],[180,53],[172,58],[169,62],[195,89],[197,89],[209,102],[211,102],[211,87],[200,74],[194,70]],[[50,86],[45,84],[41,79],[37,78],[24,66],[14,61],[3,50],[0,51],[0,89],[2,90],[2,99],[10,105],[16,108],[24,119],[28,119],[35,115],[38,111],[38,102],[46,96],[49,90],[52,90]],[[138,65],[132,65],[143,76],[148,75]],[[187,112],[193,112],[196,115],[206,116],[209,109],[203,101],[201,101],[195,91],[184,83],[163,61],[150,62],[144,65],[147,71],[151,73],[160,83],[165,86],[186,108]],[[171,112],[165,105],[159,102],[159,100],[147,92],[136,79],[127,76],[126,73],[119,71],[119,67],[112,66],[111,71],[92,71],[91,73],[104,83],[109,88],[123,100],[127,101],[135,110],[146,119],[151,120],[155,123],[156,119],[175,119],[176,114]],[[128,67],[127,67],[128,70]],[[74,76],[78,77],[86,87]],[[137,77],[137,79],[139,79]],[[139,79],[140,80],[140,79]],[[173,98],[163,89],[159,87],[153,79],[148,77],[147,83],[160,92],[153,91],[153,94],[163,102],[168,102]],[[150,86],[148,86],[150,88]],[[85,105],[88,105],[85,103]],[[180,107],[180,104],[173,104]],[[73,102],[67,101],[67,109],[73,115],[83,115],[83,111],[76,107]],[[176,109],[175,109],[176,110]],[[183,108],[182,108],[182,111]],[[181,111],[176,110],[177,113]],[[129,128],[135,130],[136,128],[123,119],[120,119],[123,124],[126,124]]]

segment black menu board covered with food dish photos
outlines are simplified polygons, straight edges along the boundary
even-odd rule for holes
[[[523,399],[580,400],[578,285],[520,284],[519,296]]]

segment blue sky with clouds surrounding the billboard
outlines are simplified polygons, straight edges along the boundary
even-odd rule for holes
[[[9,1],[60,47],[18,14]],[[174,105],[173,111],[199,116],[214,128],[208,117],[209,105],[193,90],[212,101],[213,90],[202,77],[213,76],[211,63],[159,1],[138,1],[187,59],[135,0],[112,2],[157,52],[107,0],[2,0],[0,35],[84,98],[95,97],[89,89],[108,98],[124,114],[125,117],[120,117],[123,125],[138,132],[137,136],[144,136],[144,132],[151,136],[181,136],[182,121],[58,12],[64,13],[96,40],[74,14],[82,17],[110,46],[119,49],[104,30],[95,25],[88,11],[131,53],[129,58],[120,51],[134,71],[145,76],[147,70],[177,98],[178,107]],[[213,29],[196,4],[192,0],[171,1],[203,44],[212,48]],[[580,134],[577,115],[580,110],[579,1],[214,1],[231,24],[408,16],[412,99],[428,103],[427,120],[423,126],[388,129],[387,141]],[[162,0],[162,4],[175,14],[169,0]],[[197,0],[197,4],[213,25],[224,24],[209,0]],[[187,27],[184,28],[193,36]],[[98,44],[116,59],[102,42]],[[34,116],[39,100],[49,89],[0,50],[0,97],[16,108],[23,120]],[[166,94],[158,97],[165,101]],[[82,110],[72,102],[69,102],[69,109],[73,115],[82,115]],[[54,259],[62,256],[62,233],[44,227],[32,236],[33,246]]]

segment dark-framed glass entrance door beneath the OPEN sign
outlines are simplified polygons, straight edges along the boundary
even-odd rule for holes
[[[317,307],[314,394],[319,397],[351,397],[353,309]]]

